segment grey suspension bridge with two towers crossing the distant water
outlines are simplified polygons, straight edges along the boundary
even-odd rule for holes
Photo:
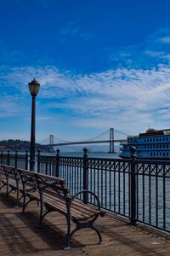
[[[54,135],[49,136],[49,143],[44,144],[45,146],[48,146],[49,151],[53,151],[54,147],[57,146],[68,146],[68,145],[81,145],[81,144],[101,144],[101,143],[109,143],[110,144],[110,153],[115,152],[115,143],[125,143],[127,142],[127,138],[116,138],[115,137],[115,132],[121,134],[122,136],[126,136],[127,134],[122,132],[122,131],[117,131],[113,127],[111,127],[109,130],[102,132],[96,137],[93,137],[91,139],[85,140],[85,141],[77,141],[77,142],[68,142],[63,139],[60,139],[58,137],[57,140],[59,141],[58,143],[54,143]],[[99,139],[100,137],[104,137],[105,135],[109,134],[109,139]]]

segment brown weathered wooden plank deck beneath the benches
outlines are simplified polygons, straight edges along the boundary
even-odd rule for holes
[[[26,213],[14,207],[14,198],[5,198],[0,192],[0,255],[170,255],[170,235],[130,226],[111,215],[96,222],[104,244],[98,245],[93,230],[77,232],[71,241],[70,250],[62,250],[65,243],[65,218],[51,213],[45,218],[42,228],[37,227],[38,207],[30,204]]]

